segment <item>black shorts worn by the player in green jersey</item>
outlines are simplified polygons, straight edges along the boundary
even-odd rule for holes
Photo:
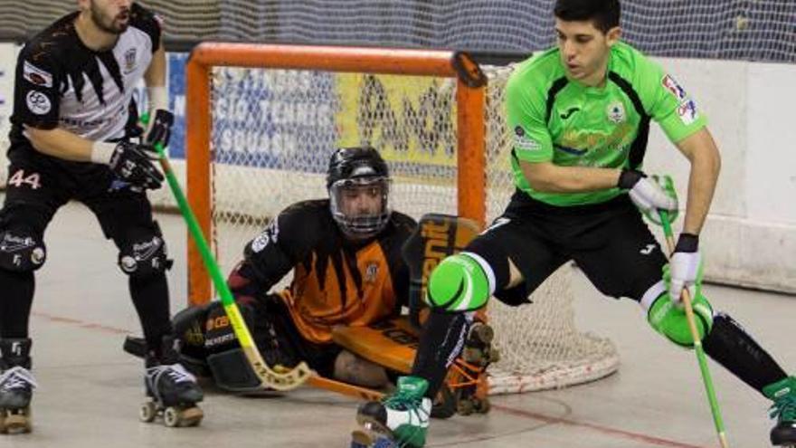
[[[498,285],[495,293],[510,305],[524,302],[570,260],[603,294],[641,300],[661,280],[667,262],[628,195],[602,204],[559,207],[518,191],[506,212],[467,251],[491,266],[505,265],[507,258],[515,263],[525,281],[508,290]]]

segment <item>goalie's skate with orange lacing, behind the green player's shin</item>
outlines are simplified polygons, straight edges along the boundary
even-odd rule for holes
[[[482,376],[487,367],[500,359],[500,352],[492,347],[493,338],[495,332],[491,327],[480,321],[473,322],[461,355],[450,369],[446,382],[453,392],[460,415],[486,414],[489,411],[486,394],[479,398],[478,391],[480,386],[484,386]]]

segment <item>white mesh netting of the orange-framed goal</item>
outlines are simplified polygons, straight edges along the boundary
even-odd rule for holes
[[[488,68],[488,219],[514,186],[508,171],[503,86],[510,68]],[[393,208],[419,218],[456,214],[453,80],[322,71],[215,68],[212,74],[213,228],[223,271],[287,205],[325,197],[337,146],[370,143],[393,175]],[[574,325],[569,268],[537,291],[533,305],[488,317],[501,361],[492,393],[561,387],[604,377],[619,359],[611,342]]]

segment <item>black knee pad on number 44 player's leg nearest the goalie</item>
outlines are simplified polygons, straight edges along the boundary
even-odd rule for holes
[[[145,279],[171,268],[166,242],[155,223],[154,234],[141,236],[125,244],[118,253],[118,266],[130,277]]]

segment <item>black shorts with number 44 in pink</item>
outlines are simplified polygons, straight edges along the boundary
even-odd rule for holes
[[[41,241],[55,212],[75,199],[90,208],[117,246],[156,232],[146,193],[119,181],[109,167],[31,151],[14,151],[0,229],[24,231]]]

